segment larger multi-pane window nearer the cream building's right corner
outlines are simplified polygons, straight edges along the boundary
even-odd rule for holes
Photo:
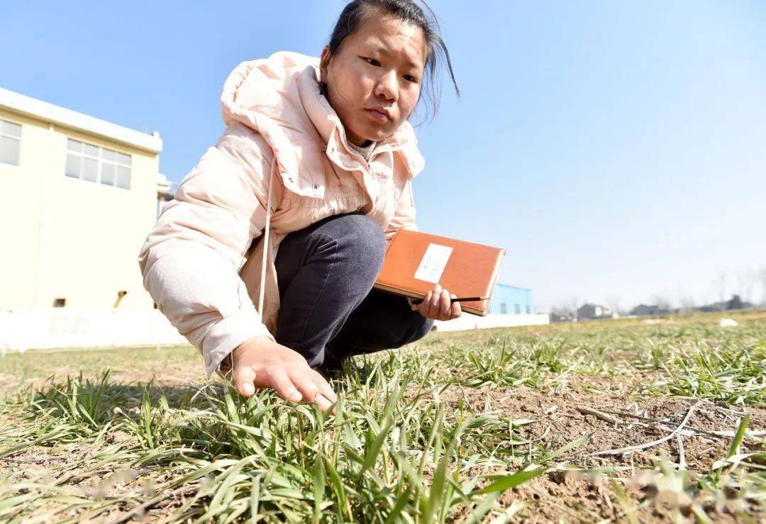
[[[130,189],[129,155],[67,139],[67,165],[64,174],[87,182]]]

